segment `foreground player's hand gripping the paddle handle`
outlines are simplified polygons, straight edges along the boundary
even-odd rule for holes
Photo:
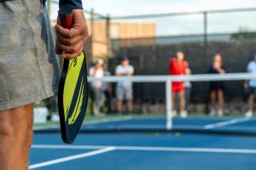
[[[82,54],[84,42],[88,39],[88,27],[82,9],[73,9],[73,26],[65,29],[61,26],[60,18],[55,26],[55,53],[64,59],[73,59]]]

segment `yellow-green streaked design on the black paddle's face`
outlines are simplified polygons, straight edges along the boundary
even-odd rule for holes
[[[65,122],[72,125],[76,122],[81,111],[82,101],[84,99],[84,78],[79,81],[81,67],[83,66],[84,53],[76,59],[69,60],[67,77],[63,90],[63,109],[65,114]],[[76,90],[79,87],[79,90]],[[73,99],[76,102],[73,103]],[[85,114],[85,113],[84,113]]]

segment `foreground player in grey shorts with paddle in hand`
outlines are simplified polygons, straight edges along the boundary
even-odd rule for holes
[[[60,8],[73,8],[73,26],[55,26],[55,45],[44,3],[0,1],[0,169],[27,169],[33,103],[58,91],[55,52],[76,58],[88,37],[81,0],[60,0]]]

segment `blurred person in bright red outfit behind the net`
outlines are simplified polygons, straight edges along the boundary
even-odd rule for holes
[[[169,64],[169,75],[172,76],[181,76],[186,75],[187,62],[184,61],[183,52],[177,52],[175,58],[172,58]],[[179,101],[179,112],[180,116],[185,118],[188,116],[188,113],[185,111],[185,88],[183,82],[172,82],[172,106],[173,111],[172,115],[176,116],[177,111],[175,111],[175,101],[176,95],[178,95]]]

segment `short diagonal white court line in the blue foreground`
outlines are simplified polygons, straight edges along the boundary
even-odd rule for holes
[[[81,159],[84,157],[96,156],[96,155],[103,154],[103,153],[106,153],[106,152],[112,151],[112,150],[115,150],[115,148],[113,146],[105,147],[105,148],[102,148],[101,150],[94,150],[94,151],[86,152],[84,154],[62,157],[62,158],[51,160],[51,161],[44,161],[42,163],[38,163],[38,164],[29,166],[29,169],[35,169],[38,167],[47,167],[49,165],[54,165],[54,164],[61,163],[64,161],[72,161],[72,160]]]

